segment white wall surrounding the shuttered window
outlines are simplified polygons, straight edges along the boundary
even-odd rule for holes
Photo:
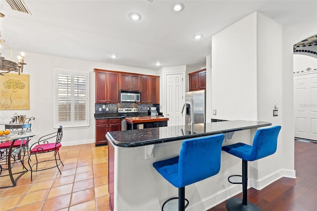
[[[13,52],[17,55],[18,52]],[[95,74],[94,68],[133,72],[139,74],[158,75],[158,72],[122,65],[114,65],[72,58],[50,56],[37,53],[25,53],[25,68],[23,74],[30,75],[30,109],[29,110],[0,110],[0,116],[25,114],[34,116],[33,131],[41,131],[38,137],[54,131],[53,128],[53,69],[62,68],[90,72],[90,126],[88,128],[64,129],[62,144],[77,145],[95,142]],[[35,138],[32,138],[36,140]]]

